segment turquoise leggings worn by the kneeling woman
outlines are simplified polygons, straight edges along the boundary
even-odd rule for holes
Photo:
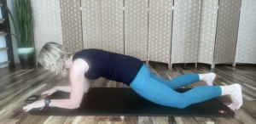
[[[143,65],[130,87],[143,98],[155,104],[161,104],[179,109],[186,108],[190,104],[200,103],[207,99],[213,99],[221,95],[219,86],[195,87],[185,93],[177,93],[175,89],[194,82],[199,82],[198,74],[177,76],[167,81],[155,76]]]

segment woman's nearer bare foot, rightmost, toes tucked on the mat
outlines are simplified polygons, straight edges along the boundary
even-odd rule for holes
[[[241,85],[240,84],[233,84],[235,87],[234,93],[231,94],[232,104],[229,105],[231,110],[238,110],[240,109],[242,102],[242,95],[241,95]]]

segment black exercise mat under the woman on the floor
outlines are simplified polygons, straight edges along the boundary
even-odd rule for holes
[[[183,93],[188,88],[179,88]],[[57,92],[51,99],[68,99],[70,93]],[[234,117],[235,113],[218,99],[210,99],[199,104],[192,104],[185,109],[177,109],[154,104],[139,96],[131,88],[91,87],[84,93],[79,109],[68,110],[44,107],[33,109],[31,115],[38,116],[186,116],[186,117]]]

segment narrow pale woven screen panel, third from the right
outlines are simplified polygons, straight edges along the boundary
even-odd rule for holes
[[[198,62],[213,64],[218,0],[202,0]]]

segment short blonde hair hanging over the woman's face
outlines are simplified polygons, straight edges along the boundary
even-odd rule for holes
[[[56,75],[67,76],[66,62],[74,53],[57,42],[44,44],[38,55],[38,62],[45,70],[53,69]]]

